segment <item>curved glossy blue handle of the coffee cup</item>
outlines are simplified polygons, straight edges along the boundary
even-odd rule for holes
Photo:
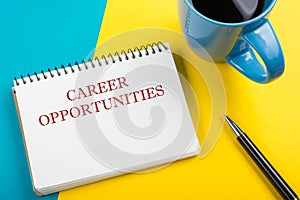
[[[264,66],[255,56],[259,54]],[[242,33],[225,58],[239,72],[258,83],[267,83],[284,71],[284,57],[277,36],[268,19],[256,29]]]

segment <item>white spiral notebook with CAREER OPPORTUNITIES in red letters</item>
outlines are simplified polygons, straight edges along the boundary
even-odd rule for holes
[[[13,95],[38,195],[200,151],[167,43],[20,76]]]

